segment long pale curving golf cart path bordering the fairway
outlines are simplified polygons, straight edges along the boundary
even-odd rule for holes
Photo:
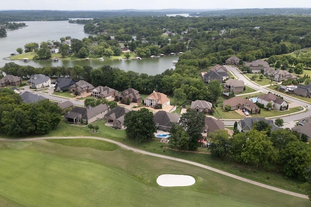
[[[87,139],[103,140],[103,141],[106,141],[106,142],[109,142],[109,143],[115,143],[115,144],[117,144],[117,145],[119,145],[119,146],[121,146],[121,147],[123,147],[125,149],[132,150],[134,152],[138,152],[138,153],[141,153],[141,154],[144,154],[144,155],[150,155],[150,156],[154,156],[154,157],[158,157],[158,158],[170,159],[170,160],[174,160],[174,161],[178,161],[178,162],[184,162],[184,163],[187,163],[187,164],[198,166],[198,167],[201,167],[201,168],[204,168],[204,169],[207,169],[207,170],[210,170],[210,171],[222,174],[222,175],[226,175],[226,176],[229,176],[229,177],[241,180],[241,181],[246,182],[246,183],[257,185],[257,186],[260,186],[260,187],[263,187],[263,188],[266,188],[266,189],[282,192],[282,193],[293,195],[293,196],[300,197],[300,198],[309,199],[309,197],[307,195],[296,193],[296,192],[292,192],[292,191],[286,191],[286,190],[283,190],[283,189],[280,189],[280,188],[276,188],[276,187],[273,187],[273,186],[265,185],[265,184],[262,184],[262,183],[259,183],[259,182],[256,182],[256,181],[253,181],[253,180],[250,180],[250,179],[243,178],[243,177],[238,176],[238,175],[233,175],[233,174],[227,173],[225,171],[218,170],[218,169],[213,168],[213,167],[209,167],[209,166],[204,165],[204,164],[200,164],[200,163],[197,163],[197,162],[189,161],[189,160],[186,160],[186,159],[173,158],[173,157],[166,156],[166,155],[159,155],[159,154],[155,154],[155,153],[151,153],[151,152],[146,152],[144,150],[140,150],[140,149],[137,149],[137,148],[125,145],[123,143],[119,143],[117,141],[109,140],[109,139],[105,139],[105,138],[101,138],[101,137],[89,137],[89,136],[81,136],[81,137],[39,137],[39,138],[25,138],[25,139],[4,139],[4,138],[0,138],[0,141],[20,142],[20,141],[34,141],[34,140],[47,140],[47,139],[82,139],[82,138],[84,138],[84,139],[87,138]]]

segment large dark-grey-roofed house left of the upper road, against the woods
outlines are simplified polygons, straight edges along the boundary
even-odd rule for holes
[[[206,84],[211,80],[218,80],[218,82],[222,83],[230,77],[225,66],[219,64],[212,67],[209,72],[202,72],[201,76]]]

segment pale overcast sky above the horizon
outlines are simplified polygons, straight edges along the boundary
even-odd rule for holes
[[[311,0],[1,0],[0,10],[311,8]],[[4,3],[5,1],[5,3]]]

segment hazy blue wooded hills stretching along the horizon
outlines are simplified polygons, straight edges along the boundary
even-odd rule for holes
[[[9,21],[55,21],[69,18],[105,18],[115,16],[163,16],[188,13],[190,16],[262,16],[262,15],[310,15],[311,8],[275,9],[162,9],[162,10],[104,10],[104,11],[58,11],[58,10],[10,10],[0,11],[0,22]]]

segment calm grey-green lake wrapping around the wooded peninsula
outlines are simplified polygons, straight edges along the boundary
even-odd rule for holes
[[[147,73],[149,75],[160,74],[168,68],[173,67],[173,61],[178,60],[178,55],[167,56],[161,58],[143,58],[142,60],[107,60],[99,61],[85,61],[85,60],[71,60],[53,63],[49,61],[29,61],[24,63],[22,61],[12,61],[8,57],[11,52],[16,52],[17,48],[23,48],[24,45],[31,42],[40,44],[43,41],[57,40],[61,37],[70,36],[71,38],[83,39],[89,34],[83,32],[83,26],[80,24],[69,24],[68,21],[30,21],[25,22],[28,27],[22,29],[7,31],[7,37],[0,38],[0,67],[9,62],[15,62],[21,65],[32,65],[34,67],[43,66],[73,66],[73,65],[90,65],[93,68],[102,65],[111,65],[112,67],[119,67],[122,70],[132,70],[138,73]]]

